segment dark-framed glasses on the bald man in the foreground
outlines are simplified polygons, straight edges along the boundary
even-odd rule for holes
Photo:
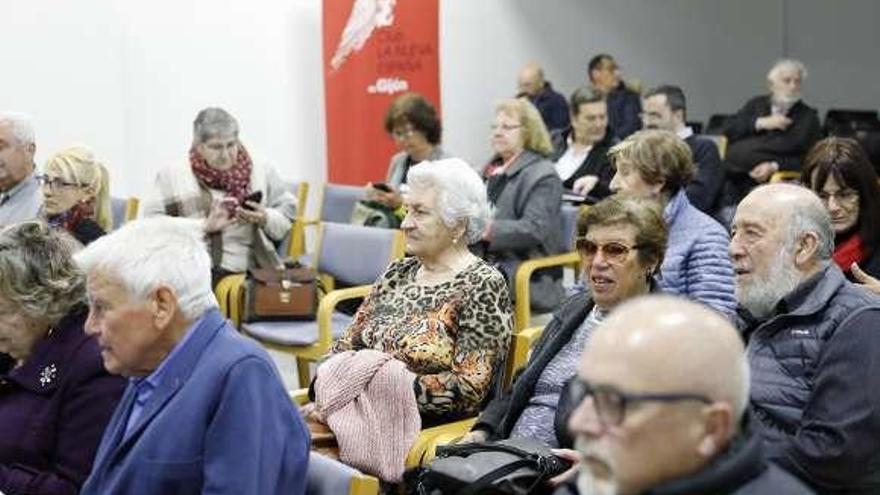
[[[590,396],[593,398],[593,407],[602,426],[619,426],[626,417],[626,407],[637,402],[680,402],[698,401],[711,404],[712,400],[705,395],[688,393],[665,393],[665,394],[630,394],[623,392],[611,385],[593,385],[590,382],[575,376],[568,386],[569,404],[573,408],[580,406],[581,402]]]

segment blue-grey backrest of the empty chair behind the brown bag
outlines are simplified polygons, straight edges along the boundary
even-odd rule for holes
[[[403,256],[403,233],[396,229],[322,222],[315,266],[344,285],[372,284],[391,261]]]

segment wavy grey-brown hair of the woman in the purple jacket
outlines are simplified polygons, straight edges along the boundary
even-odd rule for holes
[[[26,317],[52,324],[86,302],[86,279],[74,263],[80,244],[40,221],[0,231],[0,299]],[[3,308],[2,311],[8,310]]]

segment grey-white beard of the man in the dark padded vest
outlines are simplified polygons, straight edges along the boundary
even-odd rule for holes
[[[800,285],[800,273],[787,251],[786,246],[779,250],[765,276],[753,278],[748,284],[737,284],[736,300],[752,316],[769,316],[779,301]]]

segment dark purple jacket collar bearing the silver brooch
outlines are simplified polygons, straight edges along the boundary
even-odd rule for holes
[[[31,356],[6,379],[39,395],[50,395],[64,378],[71,350],[88,338],[82,331],[87,311],[77,306],[55,325],[55,329],[36,343]]]

